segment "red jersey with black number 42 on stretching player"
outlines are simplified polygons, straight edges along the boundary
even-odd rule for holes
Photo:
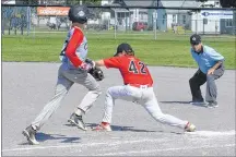
[[[152,76],[146,65],[132,56],[104,59],[106,68],[119,69],[125,84],[153,85]]]

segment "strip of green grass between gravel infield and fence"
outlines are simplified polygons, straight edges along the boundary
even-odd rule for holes
[[[196,67],[189,52],[189,36],[157,34],[154,40],[152,32],[125,34],[118,33],[87,33],[88,57],[96,60],[111,57],[120,43],[129,43],[135,56],[150,65]],[[40,33],[31,36],[4,35],[2,36],[2,61],[37,61],[59,62],[66,33]],[[205,45],[213,47],[226,59],[227,69],[235,68],[235,37],[210,36],[204,37]]]

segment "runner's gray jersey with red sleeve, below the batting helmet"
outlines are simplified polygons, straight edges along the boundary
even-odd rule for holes
[[[60,59],[69,68],[78,68],[87,57],[87,39],[79,27],[72,27],[63,44]]]

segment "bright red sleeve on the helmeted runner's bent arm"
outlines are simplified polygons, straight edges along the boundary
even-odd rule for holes
[[[83,33],[79,28],[74,28],[73,35],[71,36],[71,39],[66,49],[66,56],[69,58],[69,60],[75,68],[80,67],[82,63],[82,61],[75,53],[76,48],[81,45],[82,41]]]

